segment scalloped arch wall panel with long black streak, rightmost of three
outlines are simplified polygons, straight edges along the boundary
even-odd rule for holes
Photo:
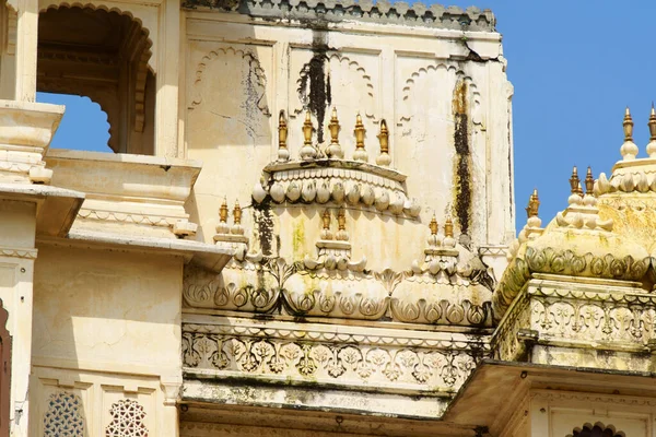
[[[453,217],[457,233],[467,234],[476,247],[487,237],[487,213],[480,208],[485,205],[487,153],[479,86],[457,64],[414,58],[397,62],[395,143],[403,151],[396,155],[397,168],[410,175],[408,191],[421,193],[422,211]],[[429,170],[417,168],[417,162],[434,164]]]

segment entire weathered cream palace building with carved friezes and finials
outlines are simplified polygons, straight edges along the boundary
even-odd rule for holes
[[[488,10],[2,2],[0,437],[656,436],[654,110],[515,239]]]

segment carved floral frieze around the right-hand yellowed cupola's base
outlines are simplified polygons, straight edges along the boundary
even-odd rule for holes
[[[523,336],[544,345],[654,350],[656,296],[640,288],[623,292],[617,284],[576,288],[574,284],[529,285],[494,335],[496,357],[520,359],[526,352]]]

